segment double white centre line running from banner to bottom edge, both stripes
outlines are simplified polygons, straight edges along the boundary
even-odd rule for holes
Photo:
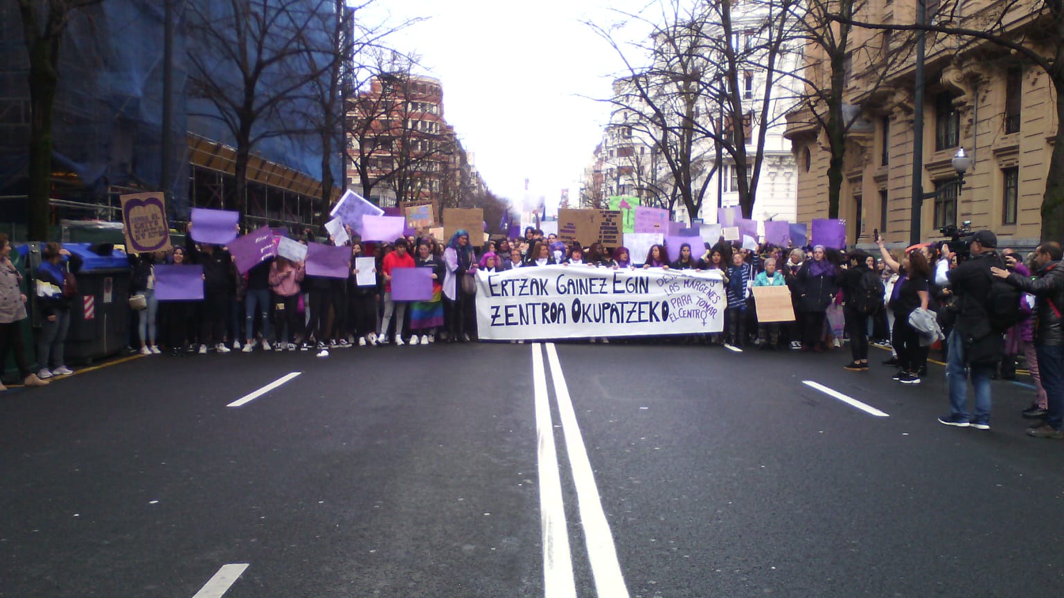
[[[628,598],[625,576],[620,572],[617,549],[610,532],[610,524],[602,512],[602,500],[595,485],[595,475],[583,436],[577,423],[569,388],[558,360],[553,343],[548,343],[547,359],[554,385],[554,397],[565,435],[565,450],[572,469],[577,488],[580,522],[584,529],[587,557],[595,591],[599,598]],[[544,594],[547,598],[576,598],[577,588],[572,575],[572,553],[569,550],[569,532],[565,521],[565,503],[559,471],[558,451],[554,447],[554,426],[547,393],[547,375],[543,365],[539,343],[532,345],[532,378],[535,389],[535,421],[538,439],[539,517],[543,533]]]

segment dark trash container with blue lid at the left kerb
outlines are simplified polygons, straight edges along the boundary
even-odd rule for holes
[[[130,264],[126,253],[110,245],[66,243],[84,264],[77,275],[78,295],[71,300],[66,361],[87,365],[116,355],[129,345]]]

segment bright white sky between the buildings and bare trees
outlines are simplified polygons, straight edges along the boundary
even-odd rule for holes
[[[475,152],[488,187],[520,210],[531,193],[556,205],[570,200],[601,139],[616,51],[582,21],[615,22],[610,7],[650,0],[380,0],[360,13],[393,23],[427,21],[387,44],[421,56],[423,74],[443,82],[444,116]]]

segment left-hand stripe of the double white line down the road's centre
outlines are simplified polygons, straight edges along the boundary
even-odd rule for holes
[[[554,428],[547,396],[547,373],[543,350],[532,345],[532,382],[535,389],[535,431],[539,467],[539,531],[543,534],[544,595],[547,598],[576,598],[569,530],[565,524],[562,476],[554,448]]]

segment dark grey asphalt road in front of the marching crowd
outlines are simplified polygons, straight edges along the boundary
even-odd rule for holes
[[[12,389],[0,596],[1060,596],[1064,443],[1023,434],[1032,392],[952,429],[941,366],[847,358],[352,348]]]

